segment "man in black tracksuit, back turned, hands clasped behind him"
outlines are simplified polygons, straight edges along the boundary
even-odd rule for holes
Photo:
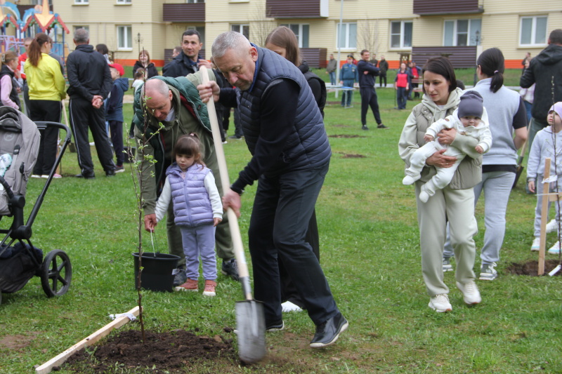
[[[70,126],[76,142],[78,165],[81,173],[78,178],[95,178],[88,139],[88,128],[96,144],[98,158],[105,175],[115,175],[115,163],[110,140],[105,130],[105,108],[103,100],[113,86],[110,67],[105,58],[89,45],[89,32],[77,29],[74,32],[76,49],[66,60],[70,96]]]

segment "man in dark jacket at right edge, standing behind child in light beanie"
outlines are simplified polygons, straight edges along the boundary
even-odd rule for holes
[[[519,85],[529,88],[535,84],[532,119],[529,125],[528,148],[537,131],[548,126],[547,114],[554,102],[562,101],[562,29],[550,33],[549,45],[533,58],[521,76]],[[554,91],[554,98],[552,92]]]

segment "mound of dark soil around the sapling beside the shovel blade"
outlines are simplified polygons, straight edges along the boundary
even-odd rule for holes
[[[237,360],[232,339],[221,335],[197,336],[186,330],[156,333],[126,330],[111,335],[97,345],[93,354],[78,352],[65,363],[65,368],[82,373],[89,367],[93,373],[105,373],[110,368],[151,368],[151,373],[185,373],[185,368],[202,360],[232,363]],[[95,359],[91,357],[93,355]]]

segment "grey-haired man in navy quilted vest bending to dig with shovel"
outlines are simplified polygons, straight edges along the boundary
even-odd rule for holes
[[[266,330],[282,330],[281,260],[316,325],[311,347],[336,342],[348,322],[336,307],[310,244],[308,221],[328,171],[330,147],[322,115],[303,74],[280,55],[251,45],[240,33],[214,41],[215,64],[232,88],[200,85],[202,100],[239,103],[244,138],[252,155],[223,196],[240,216],[244,187],[259,180],[249,227],[256,300],[264,303]]]

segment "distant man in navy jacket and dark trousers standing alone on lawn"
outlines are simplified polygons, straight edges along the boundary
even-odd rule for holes
[[[361,124],[363,130],[367,127],[367,110],[371,107],[374,120],[377,121],[377,128],[387,128],[382,124],[381,114],[379,113],[379,102],[377,92],[374,91],[374,77],[379,75],[379,68],[374,67],[369,58],[371,53],[366,49],[361,51],[361,60],[357,63],[359,72],[359,93],[361,95]]]

